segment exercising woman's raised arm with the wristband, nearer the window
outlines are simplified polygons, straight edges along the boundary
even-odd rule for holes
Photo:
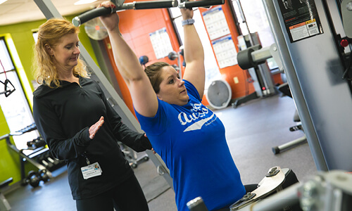
[[[181,9],[181,13],[183,20],[193,18],[193,11],[190,9]],[[194,84],[202,98],[206,80],[204,51],[201,39],[199,39],[196,27],[193,24],[184,25],[184,60],[186,61],[186,69],[183,79]]]

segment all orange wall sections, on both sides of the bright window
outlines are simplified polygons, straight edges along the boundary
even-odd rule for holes
[[[237,32],[236,24],[234,23],[234,18],[232,15],[231,5],[229,1],[230,0],[226,0],[225,4],[222,5],[222,11],[225,14],[225,18],[227,20],[232,35],[232,40],[234,41],[234,45],[236,46],[238,51],[237,37],[239,34]],[[199,10],[201,11],[201,13],[207,11],[206,8],[199,8]],[[132,50],[134,51],[134,53],[136,53],[138,58],[144,55],[149,57],[149,63],[146,63],[146,65],[155,63],[156,61],[165,61],[166,63],[177,65],[177,60],[169,60],[167,57],[157,60],[149,38],[149,33],[155,32],[156,30],[160,30],[161,28],[166,27],[166,31],[168,32],[168,35],[170,37],[172,48],[175,51],[178,51],[178,49],[180,48],[177,35],[172,25],[172,20],[170,20],[170,15],[168,14],[168,9],[127,10],[118,12],[118,15],[120,16],[120,31],[122,37],[124,37],[124,39],[127,41],[127,44],[131,46]],[[109,47],[110,40],[106,38],[104,40],[104,43],[106,44],[106,49],[109,53],[109,57],[113,61],[113,54],[111,48]],[[122,98],[125,101],[127,107],[130,108],[132,113],[134,113],[130,91],[128,91],[127,85],[125,84],[120,73],[118,72],[115,63],[113,63],[113,68],[115,71],[116,78],[118,79],[118,84],[120,84]],[[225,79],[230,84],[230,87],[232,89],[232,99],[246,96],[255,91],[255,89],[253,88],[253,84],[247,82],[247,76],[249,75],[246,74],[246,71],[239,68],[239,65],[233,65],[231,67],[222,68],[220,69],[220,73],[222,75],[222,79]],[[238,78],[239,83],[234,83],[234,77]],[[275,81],[278,80],[277,77],[275,77],[274,79]],[[208,101],[206,100],[206,96],[203,96],[203,104],[206,106],[209,105]]]

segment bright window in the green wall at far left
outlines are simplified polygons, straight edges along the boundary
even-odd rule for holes
[[[34,120],[4,38],[0,38],[0,60],[2,64],[2,66],[0,65],[0,81],[5,82],[8,79],[15,88],[15,91],[8,97],[5,94],[0,95],[0,106],[11,134],[15,134],[18,130],[32,124]],[[1,86],[4,84],[0,83],[0,90],[3,91],[4,87]],[[8,85],[8,88],[12,90],[11,85]],[[32,141],[37,137],[37,131],[32,131],[21,136],[13,136],[13,141],[15,141],[17,148],[23,149],[27,148],[27,141]]]

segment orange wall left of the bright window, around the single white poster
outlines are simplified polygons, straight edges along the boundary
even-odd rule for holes
[[[156,55],[153,51],[153,46],[149,38],[149,33],[160,30],[166,27],[166,31],[169,34],[171,45],[173,49],[180,49],[180,44],[177,40],[175,30],[173,30],[172,23],[170,20],[170,15],[167,9],[149,9],[149,10],[127,10],[118,12],[120,17],[120,32],[122,37],[125,39],[127,44],[130,45],[131,49],[136,53],[137,57],[148,56],[149,63],[155,63],[156,61],[164,61],[171,65],[177,65],[177,60],[170,60],[169,58],[162,58],[157,60]],[[110,40],[108,38],[104,39],[106,49],[108,51],[109,57],[113,61],[113,52],[110,47]],[[175,50],[176,51],[176,50]],[[127,88],[125,81],[122,79],[120,72],[115,63],[113,63],[114,72],[120,90],[122,93],[122,99],[125,101],[131,112],[134,113],[132,106],[132,98],[130,96],[130,91]]]

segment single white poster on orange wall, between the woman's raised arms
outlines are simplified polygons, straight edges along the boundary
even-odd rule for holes
[[[149,33],[149,38],[151,39],[156,59],[164,58],[173,51],[170,37],[165,27],[161,30],[156,30],[156,32]]]

